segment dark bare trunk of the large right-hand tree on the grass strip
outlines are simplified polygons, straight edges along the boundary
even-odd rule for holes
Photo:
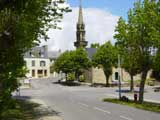
[[[144,97],[144,86],[145,86],[147,73],[148,73],[147,71],[142,72],[140,88],[139,88],[139,103],[143,103],[143,100],[144,100],[143,98]]]

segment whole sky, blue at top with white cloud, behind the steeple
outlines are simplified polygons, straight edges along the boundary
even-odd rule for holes
[[[82,0],[83,19],[86,25],[86,41],[104,44],[115,43],[113,38],[119,17],[127,20],[127,12],[133,8],[136,0]],[[72,12],[64,14],[59,24],[62,30],[50,29],[49,40],[42,40],[41,45],[48,45],[49,51],[73,50],[76,41],[76,23],[78,21],[79,0],[66,0]]]

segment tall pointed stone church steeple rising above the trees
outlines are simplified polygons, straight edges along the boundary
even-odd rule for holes
[[[76,48],[83,47],[85,48],[87,46],[87,41],[85,41],[85,24],[83,22],[83,12],[82,12],[82,0],[80,0],[79,5],[79,16],[78,16],[78,22],[77,22],[77,40],[74,42],[74,46]]]

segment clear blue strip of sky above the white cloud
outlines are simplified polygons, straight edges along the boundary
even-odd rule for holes
[[[82,0],[84,8],[100,8],[126,19],[127,12],[136,0]],[[77,7],[79,0],[68,0],[71,7]]]

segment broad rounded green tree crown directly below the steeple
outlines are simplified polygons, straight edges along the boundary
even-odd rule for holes
[[[84,69],[88,69],[91,66],[91,62],[88,59],[87,53],[82,48],[75,51],[67,51],[61,54],[54,63],[54,69],[56,72],[63,73],[75,73],[76,79],[79,79],[79,75]]]

